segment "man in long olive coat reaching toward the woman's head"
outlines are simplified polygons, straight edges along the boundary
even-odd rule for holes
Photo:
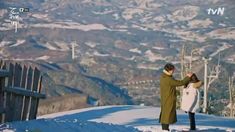
[[[188,73],[183,80],[175,80],[172,77],[174,70],[174,65],[168,63],[165,65],[160,77],[161,113],[159,122],[162,124],[162,130],[164,131],[169,131],[169,124],[177,121],[176,87],[187,84],[192,76],[192,73]]]

